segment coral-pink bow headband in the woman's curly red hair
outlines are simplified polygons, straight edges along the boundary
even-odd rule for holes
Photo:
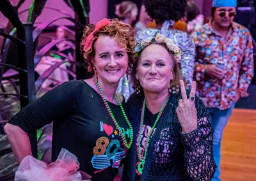
[[[90,33],[86,38],[84,38],[84,40],[82,41],[81,45],[84,46],[83,50],[85,52],[88,52],[91,50],[92,48],[92,43],[93,43],[93,38],[94,38],[94,34],[97,33],[97,31],[99,31],[100,29],[102,29],[105,25],[109,24],[109,19],[108,18],[104,18],[103,20],[97,22],[97,24],[95,25],[95,29],[93,30],[92,33]]]

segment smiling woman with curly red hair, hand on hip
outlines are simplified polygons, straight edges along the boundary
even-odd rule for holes
[[[107,18],[85,27],[83,54],[95,76],[63,83],[12,117],[4,130],[19,163],[31,155],[28,134],[54,122],[52,161],[65,148],[90,180],[114,180],[133,135],[124,97],[116,94],[134,57],[132,32],[124,22]]]

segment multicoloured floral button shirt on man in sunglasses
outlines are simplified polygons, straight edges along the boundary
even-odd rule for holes
[[[248,96],[247,89],[253,78],[253,45],[248,29],[235,22],[227,38],[214,33],[211,22],[191,34],[196,46],[196,93],[205,106],[225,110],[230,107],[236,93]],[[211,78],[205,74],[206,64],[224,63],[224,78]]]

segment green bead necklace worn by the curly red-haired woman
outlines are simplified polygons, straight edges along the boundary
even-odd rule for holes
[[[130,143],[127,143],[127,140],[125,139],[124,133],[123,133],[122,129],[120,128],[118,122],[116,121],[116,119],[115,119],[115,117],[114,117],[114,115],[113,115],[113,113],[112,113],[112,111],[111,111],[111,109],[110,109],[110,107],[109,107],[109,105],[108,105],[108,101],[107,101],[107,99],[105,98],[102,89],[100,88],[100,85],[99,85],[99,82],[97,81],[96,76],[94,76],[94,83],[95,83],[95,85],[96,85],[96,87],[97,87],[97,90],[98,90],[98,92],[99,92],[101,98],[103,99],[104,105],[106,106],[106,108],[107,108],[107,110],[108,110],[108,113],[109,113],[111,119],[112,119],[113,122],[115,123],[116,128],[118,129],[118,131],[119,131],[119,133],[120,133],[120,135],[121,135],[121,138],[122,138],[122,140],[123,140],[123,143],[124,143],[125,147],[126,147],[127,149],[131,148],[131,146],[132,146],[132,138],[133,138],[133,129],[132,129],[131,123],[129,122],[129,120],[128,120],[128,118],[127,118],[127,115],[125,114],[125,111],[124,111],[124,108],[123,108],[123,106],[122,106],[122,103],[120,102],[118,96],[117,96],[116,93],[115,93],[116,101],[118,102],[118,104],[119,104],[119,106],[120,106],[120,108],[121,108],[121,110],[122,110],[122,113],[123,113],[123,115],[124,115],[125,121],[127,122],[128,126],[129,126],[129,128],[130,128],[130,130],[131,130],[131,141],[130,141]]]

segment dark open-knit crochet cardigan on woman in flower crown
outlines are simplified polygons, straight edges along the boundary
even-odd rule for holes
[[[127,152],[122,180],[136,180],[136,140],[140,129],[144,96],[132,94],[127,101],[129,120],[134,130],[132,148]],[[147,157],[140,180],[211,180],[215,171],[212,155],[212,121],[207,108],[196,97],[198,127],[182,134],[176,109],[181,94],[172,94],[148,143]],[[189,116],[189,115],[188,115]],[[167,151],[166,151],[167,150]]]

